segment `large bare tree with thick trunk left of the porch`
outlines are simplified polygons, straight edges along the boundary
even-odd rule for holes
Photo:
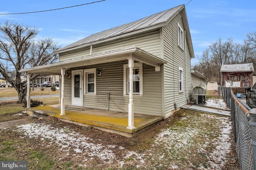
[[[50,64],[57,60],[52,52],[58,49],[57,44],[52,39],[40,39],[35,41],[38,28],[29,27],[6,21],[0,23],[0,59],[6,60],[8,66],[13,67],[15,78],[8,73],[7,63],[0,61],[0,73],[6,80],[14,86],[18,92],[17,103],[26,102],[26,82],[21,81],[22,74],[19,70],[29,66],[39,66]],[[38,75],[31,76],[34,80]]]

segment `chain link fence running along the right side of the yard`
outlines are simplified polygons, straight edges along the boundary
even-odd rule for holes
[[[232,88],[218,87],[218,94],[222,96],[228,106],[234,128],[236,153],[242,170],[253,170],[252,132],[248,121],[249,110],[251,109],[242,100],[234,95]]]

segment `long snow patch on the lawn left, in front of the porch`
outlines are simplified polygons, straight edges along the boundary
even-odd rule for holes
[[[68,130],[67,128],[54,128],[50,125],[40,125],[36,123],[30,123],[26,125],[19,125],[17,126],[18,129],[14,131],[22,132],[24,135],[28,136],[29,138],[38,138],[42,140],[42,146],[44,146],[45,139],[51,140],[48,144],[55,143],[59,145],[61,148],[60,150],[66,152],[66,155],[70,155],[70,149],[74,148],[76,154],[73,156],[80,157],[80,155],[88,155],[94,159],[94,156],[98,156],[104,163],[113,162],[116,160],[116,156],[111,149],[114,149],[115,145],[107,145],[103,146],[101,144],[94,144],[92,143],[93,140],[81,135],[80,133],[75,133],[73,131]],[[50,145],[47,145],[50,147]],[[124,149],[124,147],[118,147],[120,150]],[[133,156],[134,160],[140,160],[141,163],[144,163],[144,159],[142,158],[144,154],[138,154],[134,151],[127,151],[123,159],[129,158]],[[78,154],[78,156],[77,156]],[[79,155],[80,154],[80,155]],[[62,158],[60,158],[61,160]],[[121,158],[122,159],[122,158]],[[84,157],[83,162],[86,162],[88,159]],[[122,166],[124,161],[120,162]]]

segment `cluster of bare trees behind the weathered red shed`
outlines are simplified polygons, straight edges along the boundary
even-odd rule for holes
[[[196,64],[194,69],[198,69],[208,77],[209,81],[220,83],[220,68],[222,64],[242,64],[256,63],[256,33],[248,34],[249,40],[244,40],[244,44],[233,43],[232,38],[227,41],[218,39],[206,49],[199,59],[200,64]]]

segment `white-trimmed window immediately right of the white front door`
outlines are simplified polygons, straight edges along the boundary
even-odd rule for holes
[[[96,68],[84,70],[84,93],[96,94]]]

